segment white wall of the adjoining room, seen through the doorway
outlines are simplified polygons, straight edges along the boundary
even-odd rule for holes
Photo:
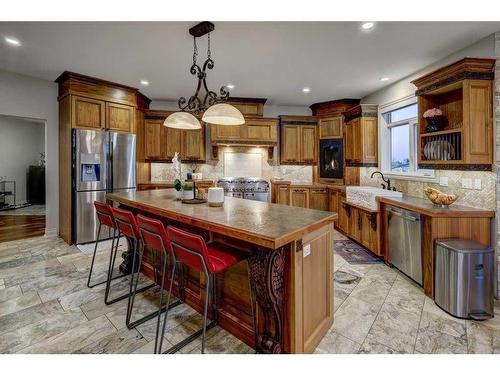
[[[0,176],[16,181],[16,204],[27,202],[27,172],[45,152],[45,123],[0,116]],[[10,203],[10,198],[8,198]]]

